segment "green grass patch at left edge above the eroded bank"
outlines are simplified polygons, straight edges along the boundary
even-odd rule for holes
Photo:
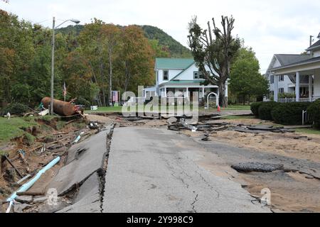
[[[22,136],[26,134],[23,129],[32,126],[38,126],[34,118],[0,118],[0,142],[9,142],[12,138]]]

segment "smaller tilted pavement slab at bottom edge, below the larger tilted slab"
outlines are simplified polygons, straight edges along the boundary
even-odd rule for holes
[[[97,173],[82,184],[75,203],[57,213],[100,213],[100,181]]]

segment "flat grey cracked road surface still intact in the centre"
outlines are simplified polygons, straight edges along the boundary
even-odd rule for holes
[[[240,184],[198,165],[207,151],[166,129],[114,128],[102,212],[270,212]]]

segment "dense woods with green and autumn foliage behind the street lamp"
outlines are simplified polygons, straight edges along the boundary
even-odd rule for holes
[[[55,98],[63,99],[65,83],[68,100],[107,106],[110,89],[137,92],[139,85],[154,85],[155,57],[177,56],[160,44],[170,45],[169,38],[157,40],[160,36],[148,39],[142,26],[114,26],[98,19],[60,29],[55,35]],[[0,108],[38,106],[50,96],[52,30],[0,10],[0,37]]]

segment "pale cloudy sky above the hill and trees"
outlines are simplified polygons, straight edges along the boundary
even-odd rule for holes
[[[203,28],[211,18],[218,23],[222,15],[233,16],[233,35],[256,52],[262,73],[274,54],[304,52],[309,35],[315,42],[320,32],[319,0],[9,0],[0,1],[0,9],[48,27],[53,16],[57,23],[77,18],[85,24],[99,18],[123,26],[156,26],[185,46],[193,16]]]

